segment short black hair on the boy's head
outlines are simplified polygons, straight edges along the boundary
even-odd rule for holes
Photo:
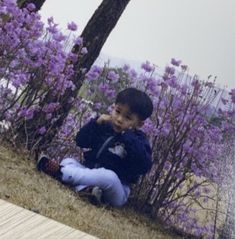
[[[127,88],[118,93],[115,104],[126,104],[132,113],[137,114],[140,120],[145,120],[153,112],[153,103],[150,97],[136,88]]]

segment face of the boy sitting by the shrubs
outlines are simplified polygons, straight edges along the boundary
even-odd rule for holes
[[[130,111],[128,105],[120,103],[114,105],[111,120],[113,129],[117,133],[143,125],[143,121],[139,119],[137,114]]]

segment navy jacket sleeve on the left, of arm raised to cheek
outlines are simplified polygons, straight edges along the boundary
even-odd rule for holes
[[[76,135],[76,144],[81,148],[93,148],[102,134],[102,125],[97,124],[97,118],[91,119]]]

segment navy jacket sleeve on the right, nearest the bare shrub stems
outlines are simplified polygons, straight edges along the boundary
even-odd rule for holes
[[[123,136],[129,174],[146,174],[152,166],[152,150],[145,134],[141,131],[127,130]]]

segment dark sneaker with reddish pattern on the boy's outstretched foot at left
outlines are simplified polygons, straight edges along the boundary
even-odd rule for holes
[[[56,178],[60,179],[60,164],[59,161],[55,159],[50,159],[47,155],[40,155],[37,161],[37,169],[38,171],[43,171],[44,173]]]

